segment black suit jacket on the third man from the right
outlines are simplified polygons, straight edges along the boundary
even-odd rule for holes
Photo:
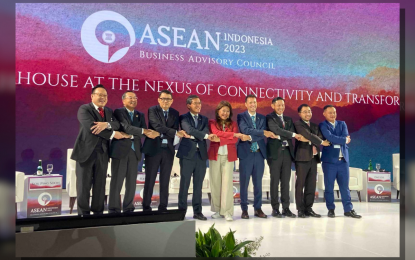
[[[286,140],[288,142],[288,150],[290,151],[291,158],[294,160],[294,148],[293,148],[293,133],[295,131],[293,120],[291,117],[284,116],[283,127],[281,119],[277,116],[277,113],[272,112],[267,115],[267,129],[276,135],[280,136],[280,139],[268,138],[267,152],[268,158],[277,160],[282,153],[282,142]]]

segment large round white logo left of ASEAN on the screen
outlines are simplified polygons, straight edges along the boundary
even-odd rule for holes
[[[120,23],[127,29],[128,34],[130,35],[130,46],[117,50],[111,57],[109,57],[109,45],[102,44],[95,35],[97,26],[104,21],[115,21]],[[111,44],[115,41],[115,34],[110,30],[106,30],[102,34],[102,40],[105,43]],[[104,63],[113,63],[124,57],[125,54],[127,54],[128,49],[134,45],[135,32],[130,22],[119,13],[113,11],[98,11],[86,18],[82,24],[81,41],[85,50],[94,59]]]

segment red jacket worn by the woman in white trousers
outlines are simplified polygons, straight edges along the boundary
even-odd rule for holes
[[[208,156],[209,160],[218,160],[219,146],[226,145],[228,149],[228,162],[234,162],[238,159],[236,154],[236,143],[238,138],[234,137],[234,133],[238,133],[238,125],[236,122],[232,122],[232,129],[226,127],[225,131],[218,129],[216,126],[216,120],[209,120],[209,131],[219,137],[220,142],[210,142]]]

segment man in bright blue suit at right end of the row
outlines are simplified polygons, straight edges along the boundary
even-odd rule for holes
[[[323,136],[331,143],[323,147],[321,154],[322,168],[324,173],[324,196],[326,206],[329,210],[328,216],[334,214],[334,181],[337,179],[340,194],[342,197],[344,215],[346,217],[361,218],[354,209],[350,198],[349,190],[349,146],[350,135],[344,121],[336,121],[336,108],[332,105],[324,107],[323,112],[326,120],[321,122],[319,127]]]

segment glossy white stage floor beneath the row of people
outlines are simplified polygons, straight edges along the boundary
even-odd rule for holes
[[[314,204],[314,211],[322,215],[316,218],[274,218],[271,205],[264,193],[262,210],[267,219],[254,217],[252,202],[249,201],[250,219],[241,219],[241,208],[235,204],[234,221],[212,219],[207,194],[203,194],[203,214],[207,221],[196,220],[196,229],[207,232],[210,226],[225,235],[229,229],[236,231],[237,240],[255,240],[263,237],[255,256],[270,257],[398,257],[399,256],[399,200],[392,203],[359,202],[352,192],[352,203],[362,219],[343,216],[341,201],[336,196],[336,218],[327,217],[322,198]],[[64,190],[62,215],[69,215],[69,198]],[[186,221],[193,220],[191,195]],[[253,194],[249,194],[253,198]],[[392,198],[396,198],[393,190]],[[18,205],[19,210],[20,205]],[[154,207],[155,209],[157,207]],[[169,209],[177,209],[177,194],[169,198]],[[295,204],[290,209],[297,214]],[[137,209],[139,210],[139,209]],[[72,215],[77,214],[76,205]],[[19,215],[19,214],[18,214]]]

